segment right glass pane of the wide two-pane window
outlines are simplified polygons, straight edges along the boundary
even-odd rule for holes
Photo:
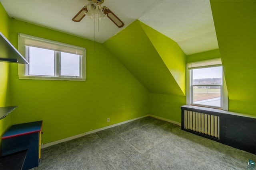
[[[80,76],[80,55],[61,52],[60,75]]]

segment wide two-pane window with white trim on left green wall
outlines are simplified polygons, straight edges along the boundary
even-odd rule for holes
[[[29,64],[19,64],[20,79],[85,80],[86,50],[19,34],[19,51]]]

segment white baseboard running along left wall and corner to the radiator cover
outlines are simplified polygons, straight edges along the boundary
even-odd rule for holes
[[[78,134],[78,135],[74,135],[72,137],[67,137],[67,138],[64,138],[64,139],[60,139],[58,141],[54,141],[54,142],[50,142],[50,143],[46,143],[46,144],[43,144],[42,145],[42,149],[46,148],[46,147],[50,147],[52,145],[56,145],[58,143],[62,143],[62,142],[66,142],[66,141],[70,141],[72,139],[76,139],[78,137],[82,137],[82,136],[85,136],[85,135],[89,135],[91,133],[95,133],[95,132],[98,132],[98,131],[102,131],[104,129],[108,129],[108,128],[111,128],[111,127],[115,127],[115,126],[118,126],[118,125],[122,125],[124,123],[128,123],[128,122],[131,122],[131,121],[135,121],[135,120],[138,120],[138,119],[141,119],[141,118],[144,118],[144,117],[154,117],[156,119],[160,119],[160,120],[164,120],[164,121],[167,121],[167,122],[170,122],[170,123],[173,123],[173,124],[176,124],[176,125],[179,125],[181,126],[181,123],[179,122],[176,122],[176,121],[172,121],[172,120],[169,120],[169,119],[165,119],[165,118],[162,118],[162,117],[159,117],[159,116],[155,116],[155,115],[144,115],[144,116],[141,116],[141,117],[137,117],[135,119],[130,119],[130,120],[127,120],[127,121],[123,121],[123,122],[120,122],[120,123],[116,123],[114,125],[109,125],[109,126],[106,126],[106,127],[102,127],[102,128],[99,128],[99,129],[95,129],[95,130],[92,130],[92,131],[88,131],[88,132],[85,132],[85,133],[81,133],[81,134]]]

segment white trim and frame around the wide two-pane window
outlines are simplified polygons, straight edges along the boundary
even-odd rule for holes
[[[52,41],[48,39],[42,39],[34,37],[31,35],[25,35],[19,33],[18,36],[18,51],[28,59],[26,56],[26,49],[28,46],[39,47],[44,49],[50,49],[54,51],[61,51],[65,53],[72,53],[80,55],[80,76],[60,76],[59,68],[60,66],[55,62],[55,72],[56,76],[39,76],[39,75],[28,75],[26,74],[26,69],[28,69],[28,64],[18,64],[18,76],[19,79],[29,79],[29,80],[71,80],[71,81],[85,81],[86,80],[86,49],[84,47],[78,47],[74,45],[69,45],[65,43],[60,43],[57,41]],[[58,56],[58,55],[57,55]],[[60,61],[60,57],[57,57]]]

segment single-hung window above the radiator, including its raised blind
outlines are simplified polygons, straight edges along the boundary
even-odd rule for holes
[[[187,64],[187,104],[223,108],[224,78],[220,59]],[[226,84],[224,84],[226,87]],[[226,102],[226,98],[224,98]],[[226,103],[224,104],[226,106]],[[226,108],[226,107],[225,107]]]

